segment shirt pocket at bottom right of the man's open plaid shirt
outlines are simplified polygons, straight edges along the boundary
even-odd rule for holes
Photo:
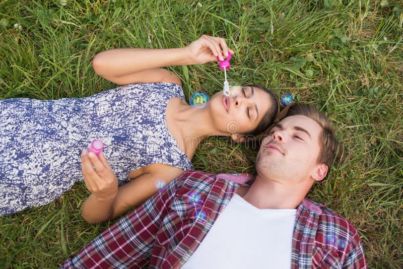
[[[337,249],[313,247],[312,268],[341,268],[341,259]]]

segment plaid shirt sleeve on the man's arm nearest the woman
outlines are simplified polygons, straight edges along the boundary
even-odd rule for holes
[[[88,243],[60,268],[141,268],[149,262],[177,179]]]

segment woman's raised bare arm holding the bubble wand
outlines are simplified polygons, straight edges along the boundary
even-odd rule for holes
[[[146,82],[173,82],[180,79],[168,70],[171,65],[203,64],[232,54],[225,40],[203,35],[183,48],[119,48],[98,53],[92,62],[95,72],[119,85]]]

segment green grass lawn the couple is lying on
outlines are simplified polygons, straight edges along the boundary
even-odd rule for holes
[[[309,197],[359,231],[372,268],[403,267],[403,5],[386,1],[15,1],[0,3],[0,98],[84,97],[114,87],[91,60],[119,47],[178,47],[202,34],[236,54],[229,79],[324,111],[344,160]],[[361,5],[361,6],[360,6]],[[14,24],[22,29],[14,28]],[[171,68],[185,94],[222,89],[217,64]],[[256,150],[210,138],[209,172],[253,172]],[[68,172],[68,171],[66,171]],[[55,267],[107,227],[86,224],[77,184],[42,208],[0,218],[0,267]]]

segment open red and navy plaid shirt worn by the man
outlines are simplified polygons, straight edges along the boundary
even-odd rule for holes
[[[64,268],[178,268],[240,184],[251,179],[187,171],[66,260]],[[297,208],[292,243],[292,268],[366,268],[356,229],[308,199]]]

